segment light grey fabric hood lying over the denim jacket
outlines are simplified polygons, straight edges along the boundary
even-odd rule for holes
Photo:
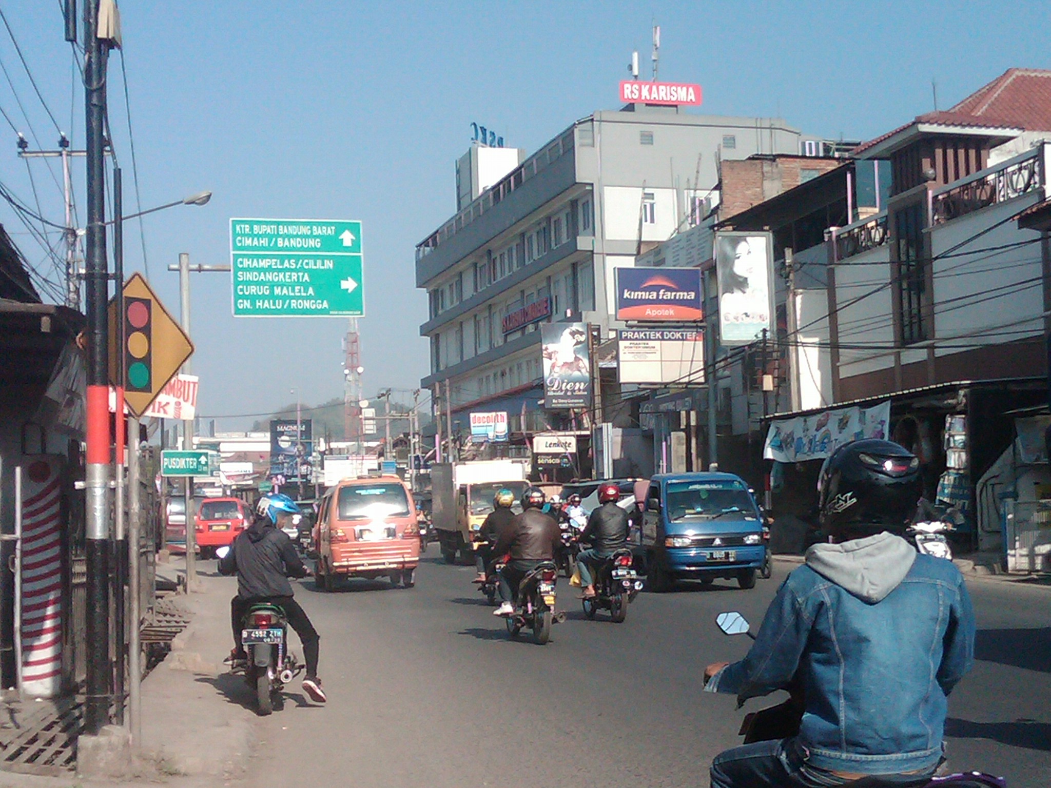
[[[912,568],[916,552],[886,532],[841,544],[815,544],[806,565],[826,580],[870,604],[897,588]]]

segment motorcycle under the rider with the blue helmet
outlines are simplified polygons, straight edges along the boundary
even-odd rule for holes
[[[248,652],[245,682],[255,690],[257,713],[273,711],[274,700],[304,666],[288,651],[288,619],[277,605],[253,604],[242,622],[241,642]]]

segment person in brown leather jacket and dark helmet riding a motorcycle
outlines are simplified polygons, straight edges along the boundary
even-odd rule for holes
[[[522,578],[542,561],[555,558],[555,549],[560,542],[558,524],[543,513],[543,491],[528,488],[522,494],[522,513],[515,516],[493,547],[494,556],[511,554],[511,560],[500,572],[500,599],[503,602],[493,610],[494,616],[513,615]]]

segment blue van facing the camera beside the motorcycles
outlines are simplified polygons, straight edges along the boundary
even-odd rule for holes
[[[640,546],[655,592],[676,579],[756,585],[763,565],[763,517],[748,485],[726,473],[660,474],[650,481]]]

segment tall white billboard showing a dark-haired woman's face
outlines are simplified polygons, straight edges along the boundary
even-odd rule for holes
[[[719,337],[750,345],[774,333],[774,256],[768,232],[717,232]]]

